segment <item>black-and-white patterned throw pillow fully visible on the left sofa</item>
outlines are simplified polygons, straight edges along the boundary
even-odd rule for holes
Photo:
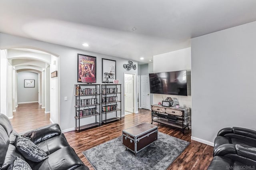
[[[26,159],[33,162],[41,162],[48,158],[47,154],[42,149],[38,148],[36,144],[24,137],[17,136],[15,146]]]

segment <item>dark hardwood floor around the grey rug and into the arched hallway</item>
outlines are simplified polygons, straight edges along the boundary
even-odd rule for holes
[[[44,114],[39,106],[38,108],[36,108],[36,105],[34,104],[24,104],[21,106],[22,107],[17,109],[16,113],[14,113],[14,119],[11,120],[14,128],[18,132],[32,130],[33,128],[38,128],[43,125],[50,124],[50,117],[47,117],[49,114]],[[23,114],[24,116],[22,116]],[[37,119],[34,119],[34,114],[42,115],[37,117]],[[93,170],[94,168],[84,157],[82,151],[121,136],[123,129],[143,122],[151,123],[151,113],[148,110],[139,109],[138,114],[126,115],[122,121],[116,121],[107,125],[102,125],[101,127],[84,130],[82,132],[76,132],[73,130],[64,133],[64,135],[66,136],[70,146],[74,148],[84,164]],[[182,154],[180,154],[180,156],[178,156],[178,158],[168,167],[168,170],[207,169],[210,161],[213,158],[212,146],[208,146],[194,140],[191,141],[191,130],[185,130],[185,134],[182,134],[182,131],[178,128],[173,128],[158,123],[153,124],[158,126],[159,132],[191,142],[190,145],[184,150],[184,152],[182,152]]]

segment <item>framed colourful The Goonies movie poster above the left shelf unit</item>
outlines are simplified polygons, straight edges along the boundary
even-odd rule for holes
[[[96,57],[77,54],[77,82],[96,83]]]

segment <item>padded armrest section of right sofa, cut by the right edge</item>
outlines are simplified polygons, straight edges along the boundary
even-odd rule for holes
[[[237,154],[239,156],[249,158],[251,160],[256,161],[256,148],[255,147],[251,147],[251,146],[247,146],[247,145],[243,145],[243,144],[236,144],[235,147],[237,150]]]

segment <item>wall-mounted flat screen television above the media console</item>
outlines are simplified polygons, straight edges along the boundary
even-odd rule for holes
[[[187,71],[149,74],[150,93],[187,96]]]

